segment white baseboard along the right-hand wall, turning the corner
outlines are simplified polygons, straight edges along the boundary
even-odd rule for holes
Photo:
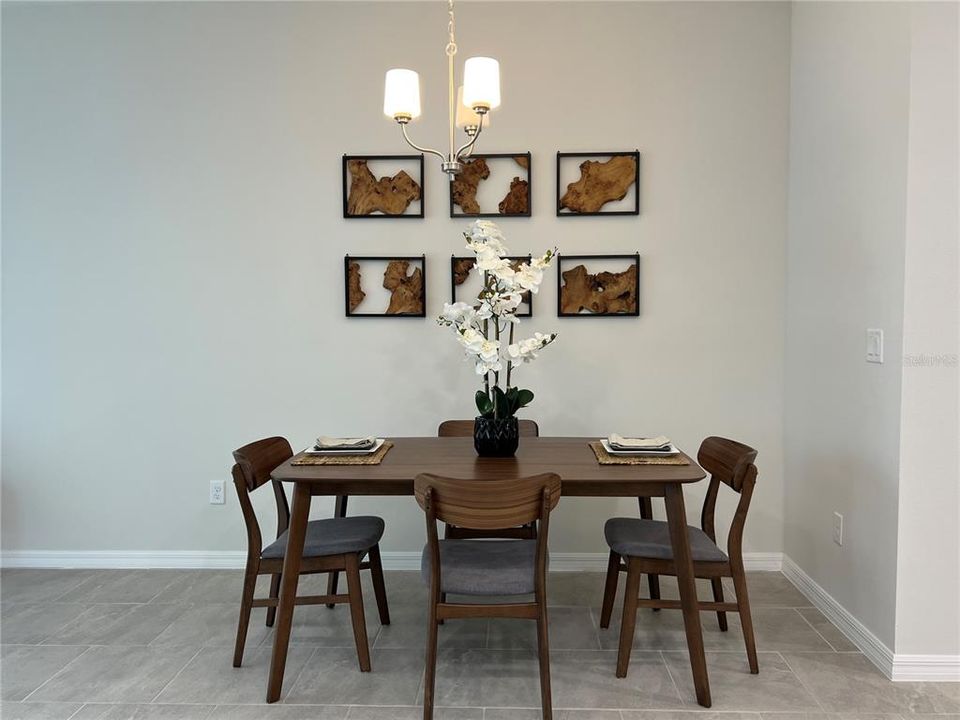
[[[897,655],[787,555],[782,572],[891,680],[960,682],[960,655]]]

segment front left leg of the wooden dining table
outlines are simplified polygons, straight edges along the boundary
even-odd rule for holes
[[[303,559],[303,543],[307,536],[309,517],[310,488],[305,483],[296,483],[293,488],[290,528],[287,531],[287,550],[283,558],[280,600],[277,604],[277,631],[273,638],[273,657],[270,659],[270,675],[267,681],[267,702],[279,700],[283,689],[283,671],[287,664],[287,646],[290,644],[297,581],[300,579],[300,561]]]

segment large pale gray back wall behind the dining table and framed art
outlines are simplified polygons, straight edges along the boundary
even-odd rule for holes
[[[483,150],[533,152],[512,249],[642,255],[638,320],[559,320],[545,282],[528,327],[560,338],[523,370],[527,416],[753,444],[747,550],[781,550],[789,5],[458,12],[463,57],[502,63]],[[344,221],[339,189],[342,153],[404,151],[389,67],[421,72],[412,132],[442,141],[445,23],[436,2],[4,3],[5,550],[241,549],[232,490],[207,504],[233,448],[471,416],[432,320],[342,307],[345,252],[426,252],[429,312],[446,298],[465,223],[439,169],[423,221]],[[640,217],[554,217],[554,153],[617,148],[642,153]],[[419,549],[412,500],[355,511],[386,517],[385,550]],[[617,512],[636,501],[565,501],[554,550],[602,551]]]

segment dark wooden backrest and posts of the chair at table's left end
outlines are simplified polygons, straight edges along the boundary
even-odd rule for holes
[[[279,465],[293,457],[290,443],[282,437],[257,440],[234,450],[233,484],[237,488],[237,498],[243,511],[243,521],[247,526],[247,554],[259,559],[263,549],[263,538],[257,514],[250,502],[250,493],[265,484],[273,485],[273,496],[277,503],[277,537],[280,537],[290,525],[290,506],[283,485],[270,478],[270,473]]]

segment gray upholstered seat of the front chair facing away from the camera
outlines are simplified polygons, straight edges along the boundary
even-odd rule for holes
[[[536,540],[441,540],[440,592],[454,595],[527,595],[534,592]],[[420,574],[430,584],[430,547]]]

